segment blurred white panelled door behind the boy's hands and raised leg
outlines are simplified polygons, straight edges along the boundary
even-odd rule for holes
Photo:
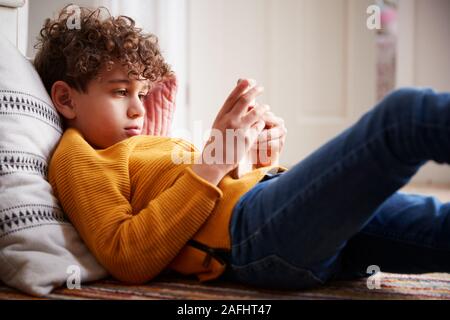
[[[375,103],[371,2],[268,2],[269,97],[288,128],[282,162],[307,156]]]

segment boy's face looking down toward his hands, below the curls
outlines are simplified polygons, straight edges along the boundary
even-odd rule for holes
[[[144,123],[144,97],[148,80],[130,79],[126,68],[115,63],[91,80],[87,92],[73,90],[75,118],[70,126],[78,129],[87,142],[104,149],[139,135]]]

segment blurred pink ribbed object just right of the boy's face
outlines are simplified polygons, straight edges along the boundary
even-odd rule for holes
[[[146,115],[142,134],[168,136],[175,112],[178,82],[175,74],[155,84],[144,99]]]

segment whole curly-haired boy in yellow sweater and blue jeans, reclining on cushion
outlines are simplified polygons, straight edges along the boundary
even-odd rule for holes
[[[393,92],[284,171],[273,164],[285,128],[253,105],[262,88],[251,81],[231,92],[213,124],[221,134],[200,153],[182,140],[140,135],[152,127],[148,86],[167,83],[170,69],[132,20],[83,9],[81,29],[72,30],[63,11],[41,36],[36,69],[67,126],[49,179],[116,278],[143,283],[173,270],[210,280],[227,270],[243,283],[299,289],[366,275],[373,264],[450,270],[450,205],[397,192],[426,161],[450,163],[450,94]],[[245,143],[221,141],[227,130]],[[257,169],[233,179],[264,131],[275,159],[258,158]],[[180,149],[200,161],[174,162]],[[217,153],[231,161],[211,162]]]

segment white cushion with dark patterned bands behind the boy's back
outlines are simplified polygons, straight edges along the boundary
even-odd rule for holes
[[[107,275],[47,181],[61,134],[37,72],[0,34],[0,279],[33,295]]]

